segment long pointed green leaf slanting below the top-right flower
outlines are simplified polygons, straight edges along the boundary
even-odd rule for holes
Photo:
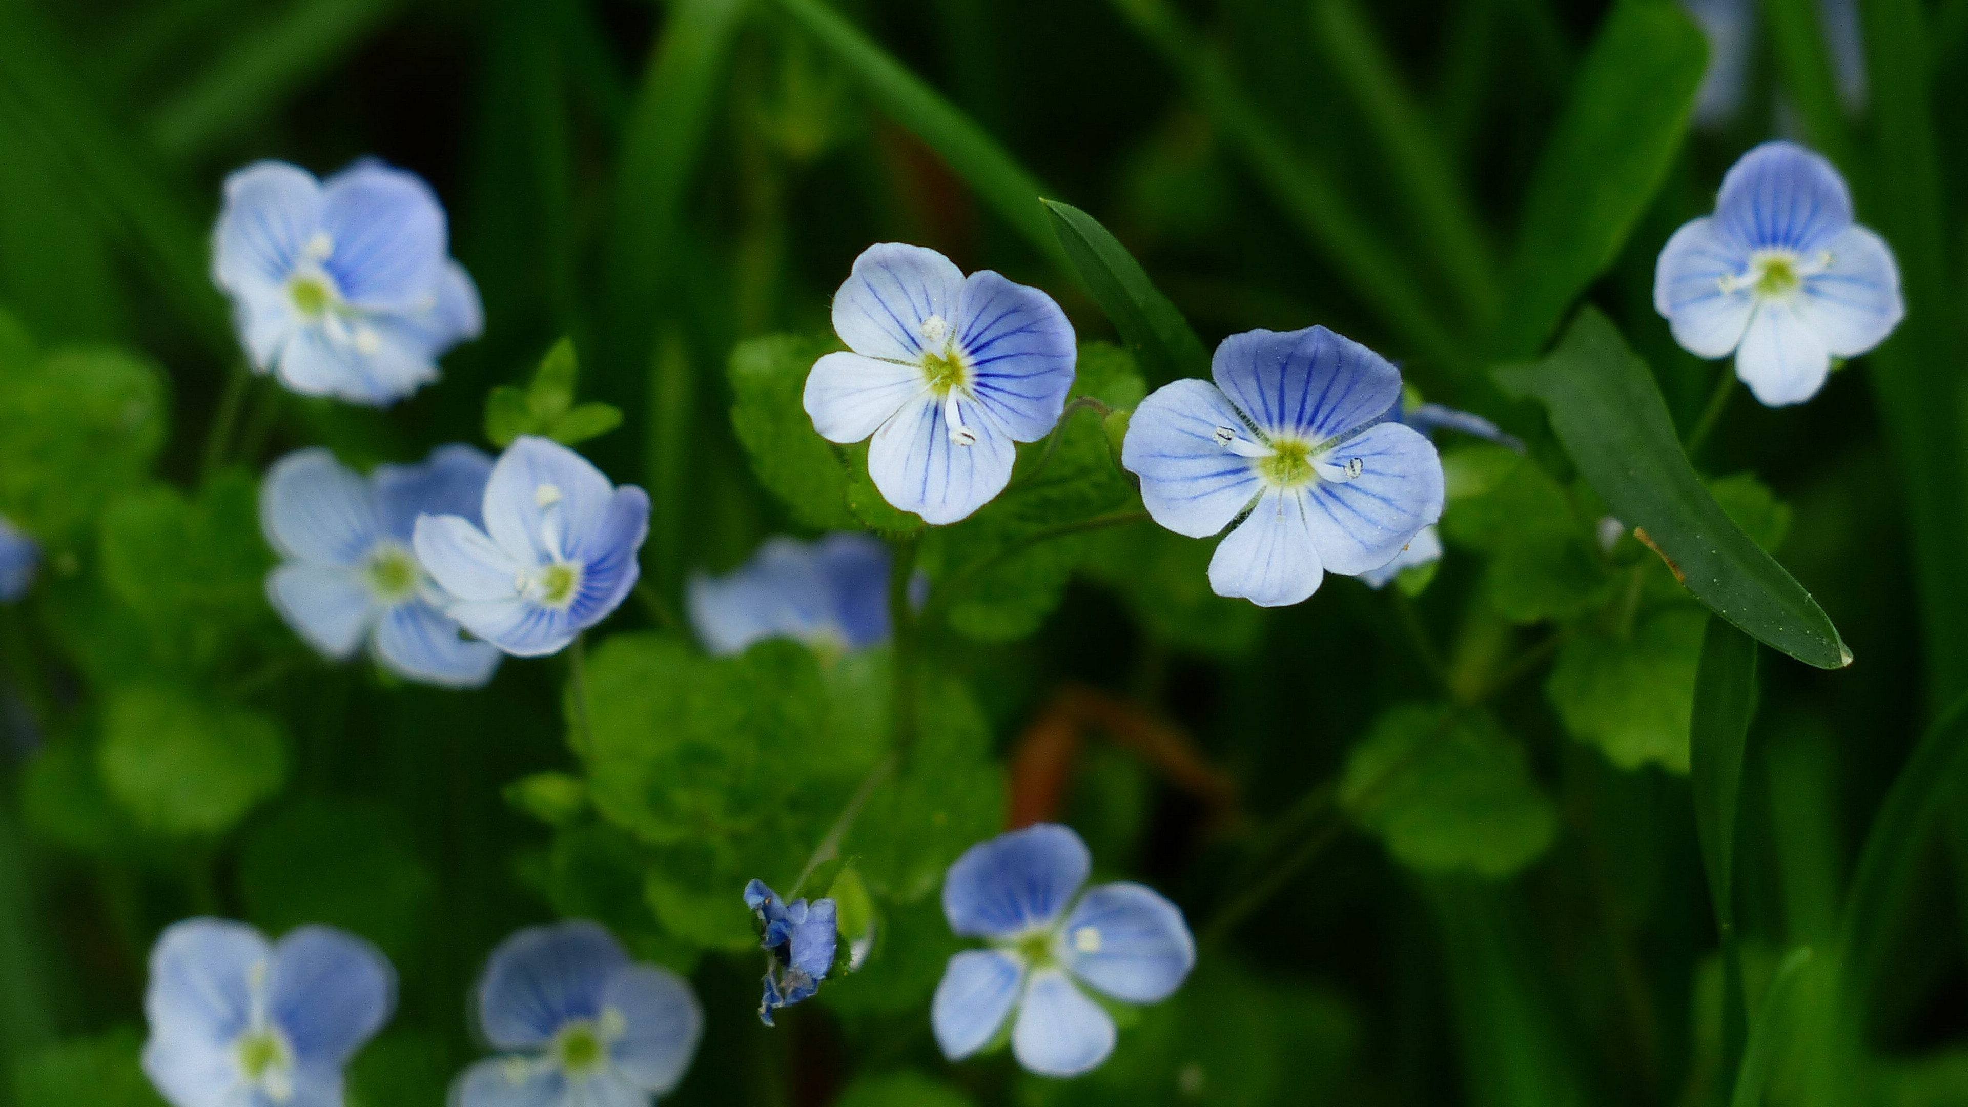
[[[1852,664],[1838,628],[1783,565],[1702,488],[1661,390],[1604,315],[1586,307],[1551,357],[1498,368],[1515,398],[1535,398],[1592,490],[1675,561],[1694,599],[1805,664]]]

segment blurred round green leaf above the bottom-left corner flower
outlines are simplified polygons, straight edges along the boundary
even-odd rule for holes
[[[110,691],[96,766],[138,827],[211,837],[287,780],[279,725],[165,684]]]

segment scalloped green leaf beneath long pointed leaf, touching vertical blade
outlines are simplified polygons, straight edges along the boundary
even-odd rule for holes
[[[1563,646],[1545,695],[1565,729],[1620,768],[1689,770],[1689,719],[1702,613],[1673,603],[1641,615],[1631,634],[1582,628]]]

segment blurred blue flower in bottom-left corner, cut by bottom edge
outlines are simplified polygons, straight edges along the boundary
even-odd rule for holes
[[[396,971],[327,926],[277,944],[216,918],[150,951],[144,1072],[173,1107],[340,1107],[342,1068],[396,1009]]]

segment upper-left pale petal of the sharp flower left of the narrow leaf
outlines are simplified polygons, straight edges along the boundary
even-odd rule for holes
[[[947,327],[954,325],[962,292],[962,270],[943,254],[878,242],[854,258],[854,270],[834,293],[834,333],[862,357],[909,362],[913,368],[925,353],[923,323],[941,319]]]

